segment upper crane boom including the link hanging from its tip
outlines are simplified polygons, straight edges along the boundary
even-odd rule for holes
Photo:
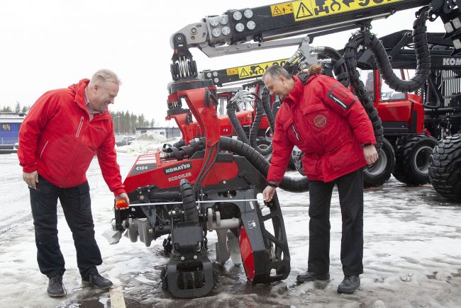
[[[208,16],[174,33],[174,80],[197,76],[190,47],[199,48],[208,57],[249,52],[265,48],[299,45],[302,39],[290,38],[309,34],[312,39],[386,18],[396,11],[431,6],[430,19],[442,19],[446,36],[455,50],[461,50],[461,11],[456,0],[299,0],[279,4],[228,10],[220,16]],[[284,39],[284,40],[282,40]]]

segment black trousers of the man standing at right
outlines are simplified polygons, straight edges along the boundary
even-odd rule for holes
[[[330,265],[330,205],[338,186],[343,233],[341,263],[345,276],[363,273],[363,171],[341,176],[328,183],[309,182],[309,261],[308,270],[328,273]]]

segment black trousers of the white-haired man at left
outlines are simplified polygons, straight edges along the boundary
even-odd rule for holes
[[[72,231],[80,273],[102,263],[101,252],[94,239],[88,182],[72,188],[59,188],[39,176],[37,190],[30,188],[30,205],[38,267],[48,278],[65,272],[64,258],[57,241],[57,198]]]

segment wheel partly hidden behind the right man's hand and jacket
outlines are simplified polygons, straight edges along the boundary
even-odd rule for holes
[[[395,166],[394,148],[386,138],[382,139],[382,148],[378,151],[378,160],[373,166],[363,170],[363,186],[382,186],[391,177]]]

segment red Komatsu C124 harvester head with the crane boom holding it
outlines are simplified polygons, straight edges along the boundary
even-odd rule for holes
[[[418,69],[411,81],[389,74],[389,61],[381,57],[379,40],[370,33],[370,22],[396,11],[417,8],[413,25]],[[166,235],[164,248],[170,261],[162,270],[162,285],[175,297],[201,297],[216,283],[216,270],[209,260],[206,235],[216,230],[216,263],[232,258],[243,268],[251,283],[271,283],[287,278],[290,256],[284,221],[277,195],[271,203],[257,198],[266,186],[267,160],[248,144],[223,137],[216,113],[216,86],[210,79],[199,79],[196,62],[189,48],[199,48],[209,57],[250,52],[265,48],[309,43],[309,38],[288,38],[307,34],[310,38],[342,30],[360,28],[351,38],[346,61],[341,64],[365,108],[370,113],[375,135],[382,144],[382,126],[367,92],[356,84],[355,52],[365,42],[379,54],[384,80],[393,81],[400,91],[414,91],[429,72],[425,52],[426,19],[440,16],[455,51],[461,49],[460,12],[455,1],[422,0],[301,0],[256,8],[233,9],[219,16],[208,16],[174,33],[174,49],[168,85],[167,118],[185,118],[199,123],[203,136],[187,139],[182,147],[165,146],[140,155],[124,185],[131,203],[115,205],[113,241],[126,232],[132,241],[151,241]],[[283,40],[282,40],[283,39]],[[309,45],[308,45],[309,47]],[[287,68],[309,62],[310,51],[297,50],[287,60]],[[385,57],[387,59],[387,57]],[[357,92],[358,91],[358,92]],[[371,106],[370,102],[371,101]],[[280,187],[306,191],[306,178],[284,178]]]

